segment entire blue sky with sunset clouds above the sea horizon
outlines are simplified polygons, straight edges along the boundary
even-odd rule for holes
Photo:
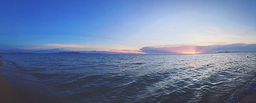
[[[0,49],[107,54],[256,51],[255,9],[256,0],[1,0]]]

